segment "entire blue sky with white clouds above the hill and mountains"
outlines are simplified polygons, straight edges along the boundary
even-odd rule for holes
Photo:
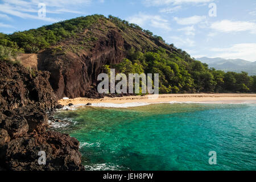
[[[0,32],[92,14],[136,23],[195,58],[256,61],[255,0],[1,0]]]

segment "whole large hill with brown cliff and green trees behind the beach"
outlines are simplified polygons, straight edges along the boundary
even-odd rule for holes
[[[90,15],[0,35],[0,58],[51,73],[57,98],[98,94],[97,76],[159,73],[160,93],[255,92],[254,77],[209,69],[160,36],[114,16]],[[1,53],[1,50],[2,53]],[[97,97],[103,97],[98,95]]]

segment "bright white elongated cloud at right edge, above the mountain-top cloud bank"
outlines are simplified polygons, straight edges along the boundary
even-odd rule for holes
[[[221,20],[220,22],[214,22],[210,26],[213,30],[219,32],[241,32],[241,31],[250,31],[253,34],[256,34],[256,23],[253,22],[232,22],[230,20]]]

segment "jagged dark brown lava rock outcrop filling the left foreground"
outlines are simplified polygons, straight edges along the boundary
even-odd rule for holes
[[[3,170],[81,170],[79,142],[46,131],[56,97],[49,73],[0,64],[0,168]],[[46,164],[39,165],[39,151]]]

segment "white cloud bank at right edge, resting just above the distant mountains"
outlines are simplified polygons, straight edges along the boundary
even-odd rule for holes
[[[256,61],[256,43],[234,44],[229,48],[212,48],[210,51],[218,52],[214,57]]]

